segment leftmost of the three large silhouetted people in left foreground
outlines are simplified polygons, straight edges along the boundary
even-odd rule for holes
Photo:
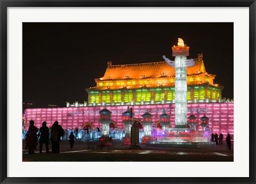
[[[28,154],[35,154],[34,152],[34,148],[35,148],[35,145],[36,145],[36,137],[37,137],[37,131],[38,131],[38,128],[36,128],[34,126],[34,121],[33,120],[30,120],[29,121],[29,128],[28,128],[28,132],[27,132],[27,136],[26,136],[26,144],[28,146]]]

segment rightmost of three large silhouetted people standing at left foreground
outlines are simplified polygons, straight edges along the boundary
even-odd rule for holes
[[[63,128],[59,125],[58,121],[55,121],[51,128],[51,141],[52,141],[52,152],[60,153],[60,137],[64,135]]]

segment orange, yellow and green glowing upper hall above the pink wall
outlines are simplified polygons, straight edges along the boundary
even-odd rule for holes
[[[178,47],[175,46],[175,48]],[[191,62],[195,65],[191,65]],[[191,66],[187,68],[188,75],[177,72],[176,76],[187,78],[187,86],[189,87],[187,100],[191,102],[199,102],[199,100],[201,100],[200,102],[211,102],[218,99],[218,97],[221,98],[222,87],[214,85],[215,76],[205,71],[203,55],[198,54],[194,61],[186,60],[186,63],[190,63],[189,66]],[[129,76],[127,76],[127,73],[129,73]],[[108,105],[174,103],[172,101],[175,99],[175,69],[170,68],[166,62],[111,64],[108,65],[104,77],[95,79],[95,82],[97,82],[97,87],[87,89],[89,103],[86,103],[86,106],[101,105],[103,101]],[[131,90],[127,91],[127,89]],[[142,91],[138,89],[142,89]],[[116,90],[120,90],[121,93],[116,95]],[[164,90],[166,91],[165,94],[157,93],[157,91]],[[149,94],[150,91],[154,93]],[[103,95],[103,93],[109,93],[110,96]],[[162,102],[163,99],[164,102]]]

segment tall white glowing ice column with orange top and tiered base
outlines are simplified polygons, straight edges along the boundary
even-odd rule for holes
[[[153,130],[151,134],[154,139],[146,145],[196,148],[216,146],[210,142],[209,124],[201,123],[203,130],[198,130],[194,115],[190,115],[187,122],[187,67],[195,65],[194,60],[187,60],[188,55],[189,47],[181,38],[178,38],[178,45],[172,47],[172,56],[175,56],[175,61],[163,56],[164,60],[175,68],[175,127],[167,130]]]

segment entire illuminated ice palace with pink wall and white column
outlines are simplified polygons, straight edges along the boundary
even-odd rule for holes
[[[203,54],[187,60],[188,49],[179,39],[178,46],[172,47],[175,61],[165,56],[165,61],[139,64],[109,61],[104,76],[95,79],[96,86],[86,89],[87,102],[28,108],[26,122],[34,120],[40,127],[43,121],[50,126],[57,120],[68,130],[99,127],[104,135],[122,139],[130,133],[129,106],[142,143],[209,141],[210,132],[222,133],[224,138],[227,133],[233,136],[233,99],[222,98],[223,87],[214,83],[214,74],[206,72]],[[28,126],[26,123],[26,129]],[[196,133],[191,135],[191,131]]]

